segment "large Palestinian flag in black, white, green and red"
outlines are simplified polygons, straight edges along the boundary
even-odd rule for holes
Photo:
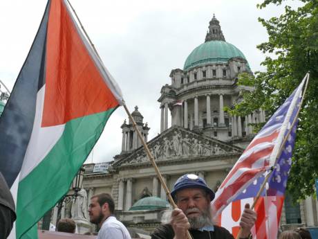
[[[19,182],[17,238],[37,238],[37,222],[68,192],[121,103],[67,1],[48,1],[0,118],[0,170],[9,186]]]

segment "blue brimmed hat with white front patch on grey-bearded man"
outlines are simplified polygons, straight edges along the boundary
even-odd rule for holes
[[[214,199],[214,191],[198,175],[187,174],[179,177],[176,184],[174,184],[174,189],[171,191],[171,196],[174,197],[178,191],[185,188],[202,188],[209,193],[211,201]]]

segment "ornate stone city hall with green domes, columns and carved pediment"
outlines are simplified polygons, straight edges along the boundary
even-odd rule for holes
[[[243,91],[253,90],[236,84],[242,72],[252,74],[247,59],[236,46],[226,42],[219,21],[213,17],[205,42],[189,53],[183,69],[171,70],[171,81],[163,82],[165,85],[158,92],[158,136],[148,139],[151,125],[144,123],[142,109],[135,107],[132,116],[169,189],[178,177],[191,172],[203,177],[216,191],[252,140],[252,124],[266,121],[262,109],[246,116],[230,116],[224,111],[241,100]],[[118,129],[118,134],[122,133],[122,150],[109,168],[94,172],[93,163],[84,166],[86,203],[97,193],[109,193],[115,200],[119,220],[129,227],[152,231],[164,218],[169,203],[131,121],[123,121]],[[59,213],[55,207],[44,221],[56,224],[59,218],[70,218],[71,204],[64,202]],[[317,226],[317,208],[317,200],[312,197],[292,205],[287,196],[281,226]]]

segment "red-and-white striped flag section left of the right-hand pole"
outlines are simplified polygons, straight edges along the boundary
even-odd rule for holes
[[[216,191],[212,202],[215,216],[233,202],[247,186],[263,175],[268,168],[277,163],[277,154],[283,138],[290,129],[291,121],[296,117],[301,99],[303,84],[307,75],[292,95],[279,107],[270,120],[247,146],[241,157]]]

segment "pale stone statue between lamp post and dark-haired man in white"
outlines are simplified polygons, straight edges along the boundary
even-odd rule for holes
[[[86,190],[82,188],[77,193],[77,197],[73,199],[71,208],[72,218],[88,220],[87,212],[87,194]]]

